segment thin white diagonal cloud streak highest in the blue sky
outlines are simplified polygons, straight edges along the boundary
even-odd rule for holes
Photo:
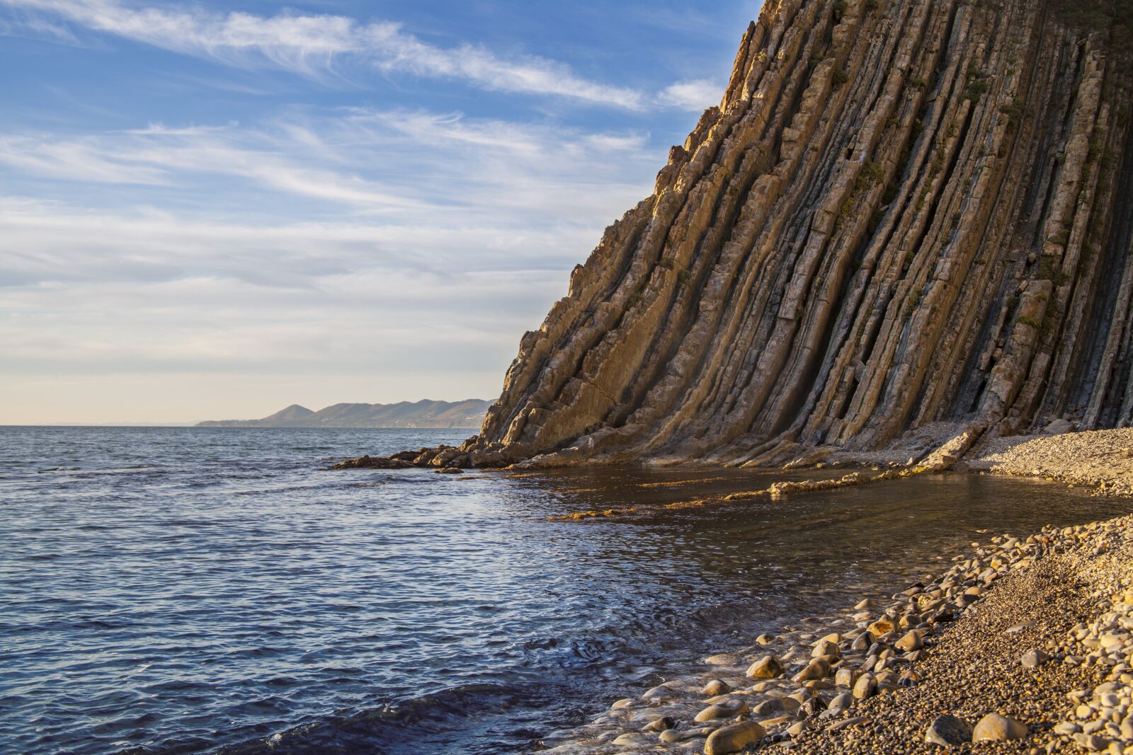
[[[185,6],[135,7],[117,0],[0,2],[31,11],[33,15],[24,23],[32,28],[46,27],[44,17],[62,18],[165,50],[235,66],[271,66],[313,78],[335,75],[339,63],[349,60],[382,71],[458,79],[485,89],[561,96],[630,110],[642,109],[646,101],[640,92],[591,81],[554,60],[536,55],[502,58],[472,44],[440,48],[391,22],[361,23],[346,16],[293,12],[218,14]]]

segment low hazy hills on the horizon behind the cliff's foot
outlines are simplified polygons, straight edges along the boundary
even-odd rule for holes
[[[489,401],[402,401],[397,404],[334,404],[313,412],[291,404],[261,420],[212,420],[197,427],[275,428],[479,428]]]

